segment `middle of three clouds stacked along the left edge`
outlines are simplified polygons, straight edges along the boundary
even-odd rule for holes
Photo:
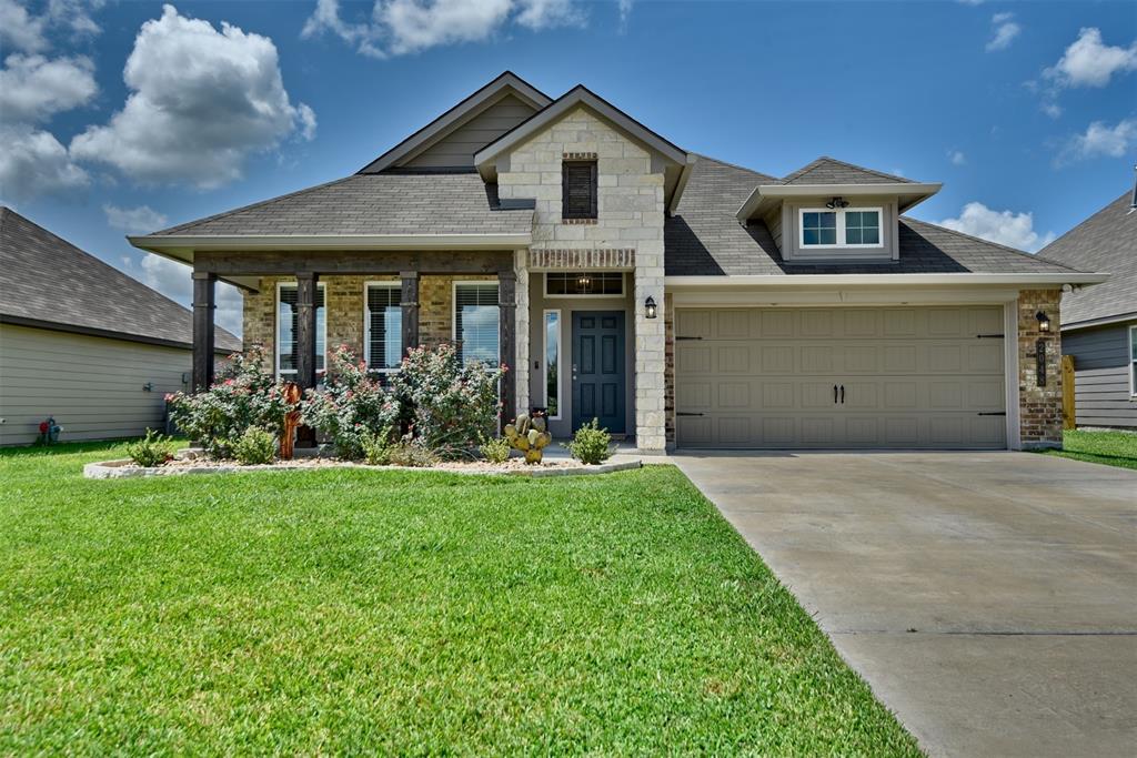
[[[98,90],[90,58],[17,52],[0,69],[0,113],[9,124],[39,122],[86,103]]]

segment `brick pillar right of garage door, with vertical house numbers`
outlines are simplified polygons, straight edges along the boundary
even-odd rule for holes
[[[1019,428],[1023,448],[1062,445],[1062,338],[1060,290],[1019,292]],[[1051,317],[1049,334],[1038,331],[1036,314]],[[1046,386],[1038,386],[1035,343],[1046,342]]]

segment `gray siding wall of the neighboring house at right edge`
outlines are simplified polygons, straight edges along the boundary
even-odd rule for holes
[[[1078,426],[1137,428],[1137,400],[1129,388],[1129,326],[1111,324],[1062,333],[1062,352],[1073,356]]]

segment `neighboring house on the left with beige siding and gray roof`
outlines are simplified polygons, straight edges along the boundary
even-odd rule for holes
[[[49,416],[60,440],[163,428],[165,394],[189,388],[191,314],[0,208],[0,444],[27,444]],[[217,330],[215,349],[241,341]]]

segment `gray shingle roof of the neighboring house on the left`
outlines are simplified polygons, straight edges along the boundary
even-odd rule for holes
[[[189,309],[3,207],[0,315],[193,343]],[[223,328],[216,343],[221,350],[241,349],[241,340]]]

